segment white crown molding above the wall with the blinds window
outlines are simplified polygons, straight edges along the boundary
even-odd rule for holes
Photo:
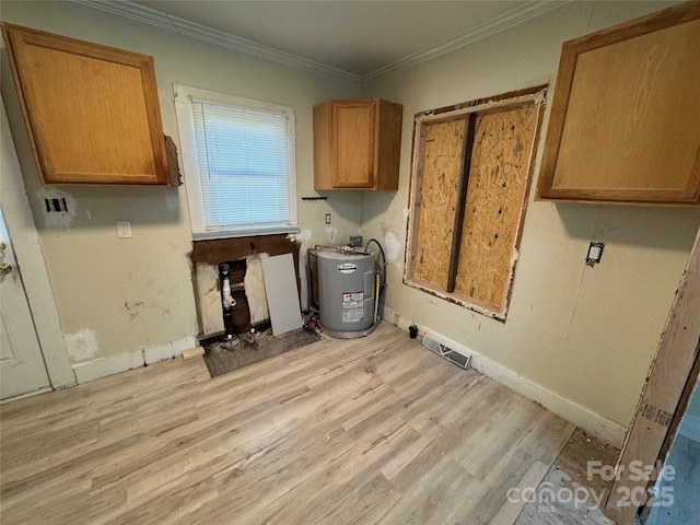
[[[199,38],[201,40],[211,42],[221,46],[235,49],[247,55],[253,55],[265,60],[281,63],[292,68],[307,71],[323,77],[351,81],[360,84],[362,79],[353,73],[342,71],[330,66],[325,66],[313,60],[308,60],[291,52],[281,51],[273,47],[257,44],[246,38],[225,33],[223,31],[213,30],[206,25],[189,22],[178,16],[172,16],[144,5],[131,3],[126,0],[72,0],[75,3],[98,9],[112,14],[126,16],[138,22],[154,25],[163,30],[174,31],[176,33]]]

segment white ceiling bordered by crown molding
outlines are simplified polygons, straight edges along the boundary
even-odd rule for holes
[[[78,0],[355,81],[417,63],[561,0]],[[185,31],[183,31],[185,28]],[[208,30],[214,30],[210,32]],[[257,49],[256,49],[257,48]],[[245,50],[245,49],[243,49]],[[258,52],[255,52],[258,51]]]

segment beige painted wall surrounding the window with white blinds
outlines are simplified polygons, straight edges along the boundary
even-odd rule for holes
[[[337,238],[357,234],[360,194],[331,192],[324,203],[312,172],[312,108],[331,97],[357,96],[352,83],[259,60],[199,39],[72,2],[2,2],[2,21],[151,55],[155,60],[163,127],[179,144],[173,84],[290,105],[296,114],[299,218],[327,244],[324,214]],[[191,234],[185,187],[45,186],[38,183],[26,130],[2,52],[2,96],[44,248],[58,314],[73,363],[191,337],[197,318],[187,254]],[[44,197],[66,197],[70,214],[55,217]],[[117,238],[116,220],[130,220],[133,237]]]

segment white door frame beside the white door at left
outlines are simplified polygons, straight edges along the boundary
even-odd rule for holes
[[[21,266],[24,290],[36,335],[39,339],[44,362],[52,388],[62,388],[77,383],[75,372],[71,366],[66,339],[61,330],[54,291],[48,278],[42,245],[34,224],[34,217],[24,188],[22,170],[10,124],[4,108],[4,100],[0,96],[1,117],[1,160],[0,165],[0,206],[5,224],[10,232],[12,248]],[[33,164],[32,164],[33,165]]]

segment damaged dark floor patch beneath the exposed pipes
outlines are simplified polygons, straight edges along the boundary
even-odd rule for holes
[[[240,335],[232,341],[203,341],[205,363],[209,374],[217,377],[320,339],[320,334],[300,328],[280,336],[273,336],[268,329],[254,335]]]

